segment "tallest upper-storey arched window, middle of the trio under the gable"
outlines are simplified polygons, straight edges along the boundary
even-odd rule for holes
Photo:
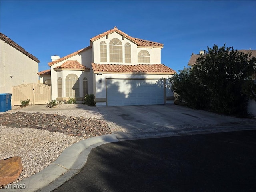
[[[109,60],[115,63],[123,62],[122,42],[117,38],[112,39],[109,43]]]

